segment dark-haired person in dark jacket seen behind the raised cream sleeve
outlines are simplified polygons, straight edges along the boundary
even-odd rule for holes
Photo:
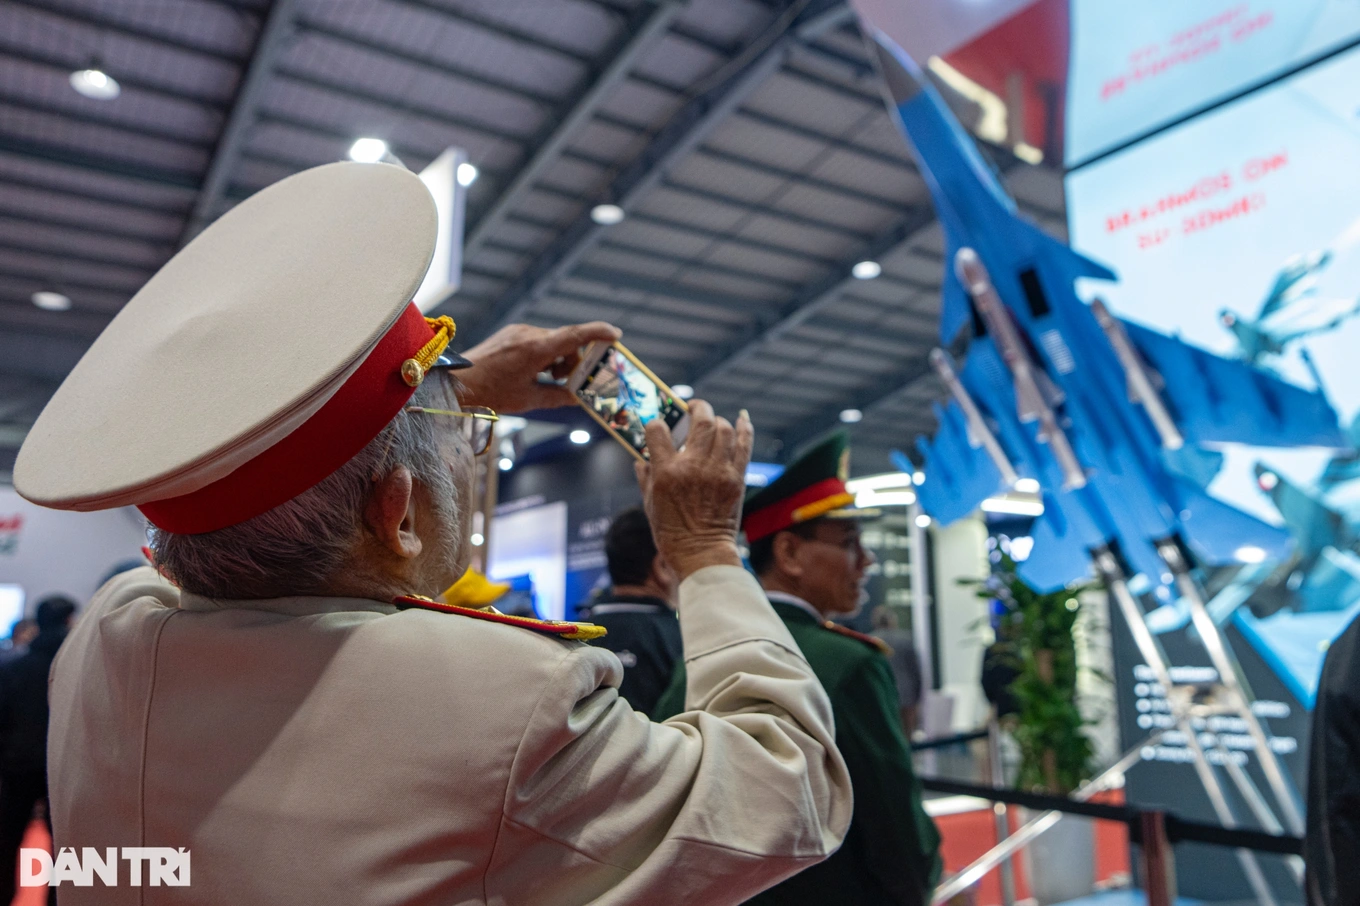
[[[619,513],[605,535],[613,588],[590,607],[590,620],[609,630],[596,645],[623,664],[622,695],[650,714],[680,660],[676,575],[657,554],[651,524],[641,507]]]

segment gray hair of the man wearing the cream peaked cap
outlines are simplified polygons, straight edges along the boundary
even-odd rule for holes
[[[430,374],[411,405],[454,408],[453,380]],[[363,511],[374,482],[405,465],[428,491],[445,532],[457,548],[460,522],[453,475],[439,453],[447,419],[398,412],[378,437],[318,484],[245,522],[177,535],[150,531],[156,566],[186,592],[220,599],[321,593],[343,569],[363,533]],[[452,511],[450,511],[452,510]]]

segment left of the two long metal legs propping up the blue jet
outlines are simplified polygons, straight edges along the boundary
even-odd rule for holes
[[[1190,724],[1186,701],[1178,698],[1174,692],[1175,684],[1171,682],[1171,671],[1167,667],[1167,656],[1166,652],[1161,650],[1161,642],[1159,642],[1148,628],[1148,624],[1144,620],[1142,608],[1129,590],[1119,558],[1115,556],[1111,550],[1102,548],[1095,551],[1093,559],[1096,571],[1104,580],[1106,588],[1110,589],[1110,594],[1114,597],[1121,612],[1123,614],[1125,623],[1133,634],[1133,641],[1138,646],[1142,660],[1152,669],[1153,675],[1157,677],[1157,683],[1161,684],[1161,688],[1167,694],[1167,701],[1171,703],[1172,717],[1176,721],[1176,729],[1179,729],[1185,736],[1186,745],[1194,756],[1195,774],[1200,775],[1200,784],[1209,796],[1209,803],[1213,805],[1213,812],[1217,816],[1219,823],[1227,828],[1238,827],[1236,816],[1232,813],[1228,797],[1223,792],[1223,784],[1219,781],[1219,775],[1214,773],[1213,766],[1205,756],[1204,747],[1200,744],[1200,737],[1195,733],[1194,726]],[[1168,566],[1171,565],[1168,563]],[[1217,630],[1214,630],[1214,634],[1217,635]],[[1231,762],[1231,758],[1227,760]],[[1274,894],[1270,891],[1270,884],[1266,883],[1265,873],[1261,871],[1261,864],[1257,861],[1255,853],[1239,849],[1238,861],[1242,864],[1242,871],[1246,875],[1251,890],[1255,892],[1257,901],[1262,903],[1262,906],[1278,906]]]

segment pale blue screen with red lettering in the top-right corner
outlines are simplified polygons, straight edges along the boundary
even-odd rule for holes
[[[1355,0],[1072,0],[1068,166],[1357,35]]]

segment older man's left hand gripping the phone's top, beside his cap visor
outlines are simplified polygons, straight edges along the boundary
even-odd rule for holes
[[[581,347],[596,340],[613,343],[620,336],[619,328],[604,321],[554,331],[510,324],[462,354],[472,367],[457,373],[465,388],[460,400],[507,415],[571,405],[575,397],[566,388],[544,386],[539,374],[564,378],[581,360]]]

